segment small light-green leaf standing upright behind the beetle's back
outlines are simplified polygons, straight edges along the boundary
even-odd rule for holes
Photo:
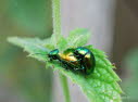
[[[81,47],[87,43],[90,38],[91,33],[85,28],[77,28],[70,33],[67,42],[68,47]]]

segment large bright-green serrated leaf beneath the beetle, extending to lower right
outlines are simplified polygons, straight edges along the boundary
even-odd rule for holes
[[[121,79],[112,71],[113,65],[111,63],[105,63],[106,58],[98,49],[92,47],[87,47],[91,50],[96,58],[96,68],[95,72],[88,77],[81,75],[76,75],[70,71],[63,69],[60,65],[54,64],[55,68],[61,71],[64,75],[71,78],[71,80],[77,84],[84,93],[88,97],[89,102],[122,102],[121,93],[122,89],[116,81]]]

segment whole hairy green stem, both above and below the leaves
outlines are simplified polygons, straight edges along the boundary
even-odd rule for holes
[[[61,0],[52,0],[52,17],[53,17],[53,34],[54,34],[53,40],[55,42],[54,46],[57,46],[57,42],[61,36]],[[63,88],[65,102],[71,102],[67,78],[61,73],[59,73],[59,75]]]

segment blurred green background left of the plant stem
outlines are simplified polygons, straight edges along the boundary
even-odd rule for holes
[[[0,0],[0,102],[51,102],[51,71],[7,41],[50,37],[51,18],[50,0]]]

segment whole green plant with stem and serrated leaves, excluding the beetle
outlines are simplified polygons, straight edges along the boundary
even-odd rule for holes
[[[80,87],[89,102],[121,102],[122,89],[117,84],[121,79],[114,73],[114,66],[108,61],[103,51],[95,49],[92,46],[86,46],[91,35],[90,31],[77,28],[72,30],[67,38],[64,38],[61,35],[60,0],[52,0],[52,12],[53,35],[50,38],[41,40],[39,38],[10,37],[8,40],[24,48],[29,53],[28,56],[46,62],[46,67],[54,67],[53,71],[60,72],[66,102],[71,102],[66,77]],[[95,71],[87,77],[64,69],[58,62],[48,62],[47,54],[51,50],[59,49],[60,52],[63,52],[68,48],[76,47],[86,47],[93,52],[96,58]]]

